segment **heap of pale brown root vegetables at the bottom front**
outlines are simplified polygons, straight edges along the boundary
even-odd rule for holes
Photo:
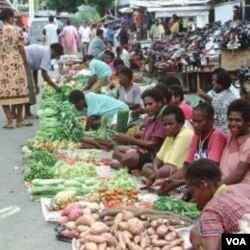
[[[76,230],[80,231],[74,239],[76,250],[184,249],[183,239],[168,219],[143,221],[132,211],[122,210],[109,226],[103,215],[84,214],[76,220]]]

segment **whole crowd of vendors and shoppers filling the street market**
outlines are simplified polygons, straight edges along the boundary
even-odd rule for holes
[[[69,101],[90,123],[109,116],[113,128],[117,114],[126,111],[128,126],[133,125],[132,134],[113,133],[117,146],[112,167],[126,166],[131,173],[139,173],[147,188],[160,186],[159,194],[193,199],[202,211],[191,233],[194,249],[201,245],[218,249],[223,232],[239,231],[238,220],[250,212],[250,104],[240,99],[226,70],[214,70],[213,89],[199,90],[202,101],[192,108],[177,77],[144,92],[134,84],[133,70],[142,69],[144,58],[139,43],[129,47],[126,26],[121,27],[115,46],[106,25],[91,29],[84,23],[77,30],[68,21],[59,31],[50,17],[43,30],[47,47],[24,47],[22,33],[13,24],[13,11],[3,10],[1,19],[0,104],[7,118],[5,129],[14,127],[14,118],[17,127],[31,125],[24,120],[23,108],[26,118],[30,117],[30,105],[39,93],[37,71],[60,91],[47,73],[51,59],[76,54],[80,42],[83,59],[75,69],[88,68],[91,77],[82,90],[70,93]],[[171,32],[178,29],[174,15]],[[153,40],[163,38],[159,19],[150,34]],[[103,87],[116,89],[115,96],[101,94]],[[136,125],[134,117],[141,118]],[[97,129],[95,125],[89,127]]]

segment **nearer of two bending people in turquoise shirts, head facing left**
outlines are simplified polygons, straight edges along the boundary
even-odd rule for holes
[[[119,111],[128,111],[128,106],[108,95],[88,92],[84,94],[81,90],[72,90],[69,101],[79,111],[86,111],[87,116],[115,116]]]

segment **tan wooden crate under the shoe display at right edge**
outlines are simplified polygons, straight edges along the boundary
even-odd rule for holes
[[[220,65],[228,71],[250,65],[250,49],[222,50]]]

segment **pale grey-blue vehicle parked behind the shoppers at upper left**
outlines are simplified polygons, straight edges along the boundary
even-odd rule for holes
[[[60,20],[55,18],[54,22],[59,29],[63,28],[64,25]],[[29,44],[43,44],[43,28],[48,23],[48,17],[39,17],[32,21],[28,35]]]

